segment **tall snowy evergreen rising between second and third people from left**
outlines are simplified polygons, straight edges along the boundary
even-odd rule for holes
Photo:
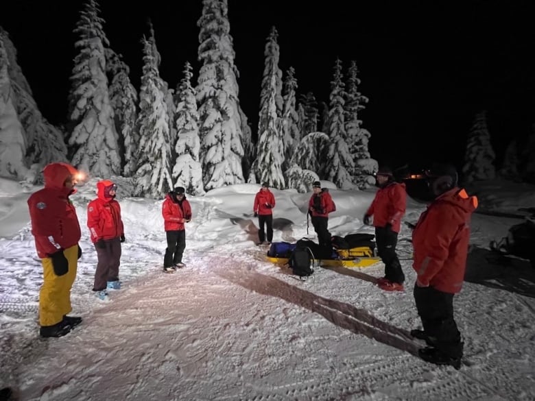
[[[137,154],[138,168],[134,176],[136,195],[164,197],[173,188],[169,158],[169,114],[167,114],[167,84],[160,78],[160,54],[156,50],[151,27],[149,39],[143,38],[143,75],[139,93],[138,127],[140,134]]]

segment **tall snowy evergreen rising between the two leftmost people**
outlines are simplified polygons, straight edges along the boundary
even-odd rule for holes
[[[106,77],[104,47],[109,42],[99,12],[96,0],[86,0],[74,29],[80,39],[71,74],[69,147],[73,165],[109,177],[121,173],[121,160]]]

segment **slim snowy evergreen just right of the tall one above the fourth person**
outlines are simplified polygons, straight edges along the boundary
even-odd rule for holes
[[[289,169],[289,160],[292,159],[296,147],[300,141],[300,131],[298,127],[299,116],[296,110],[296,89],[297,80],[295,78],[295,70],[289,67],[284,81],[284,96],[283,96],[283,114],[281,118],[281,137],[284,147],[283,171]]]

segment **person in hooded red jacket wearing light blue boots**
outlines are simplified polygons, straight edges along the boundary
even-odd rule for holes
[[[97,182],[97,198],[87,205],[87,226],[97,250],[93,291],[106,300],[108,289],[120,289],[121,243],[125,241],[121,206],[115,200],[117,185],[110,180]]]

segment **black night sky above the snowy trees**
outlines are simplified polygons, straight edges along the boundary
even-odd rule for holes
[[[4,2],[5,3],[5,2]],[[58,5],[51,5],[57,3]],[[139,88],[147,19],[162,56],[160,75],[171,88],[186,60],[196,84],[201,0],[101,2],[110,45],[124,56]],[[440,3],[440,4],[438,4]],[[535,123],[535,15],[530,1],[229,0],[230,35],[239,69],[239,99],[257,130],[265,39],[274,25],[283,73],[296,69],[298,93],[329,102],[336,58],[359,66],[361,112],[380,164],[413,170],[429,163],[462,165],[466,134],[479,110],[488,110],[500,162],[511,138]],[[353,9],[348,6],[352,5]],[[149,9],[150,7],[150,9]],[[329,9],[326,9],[329,7]],[[26,1],[1,6],[18,60],[44,116],[67,117],[69,75],[75,56],[72,30],[82,1]]]

